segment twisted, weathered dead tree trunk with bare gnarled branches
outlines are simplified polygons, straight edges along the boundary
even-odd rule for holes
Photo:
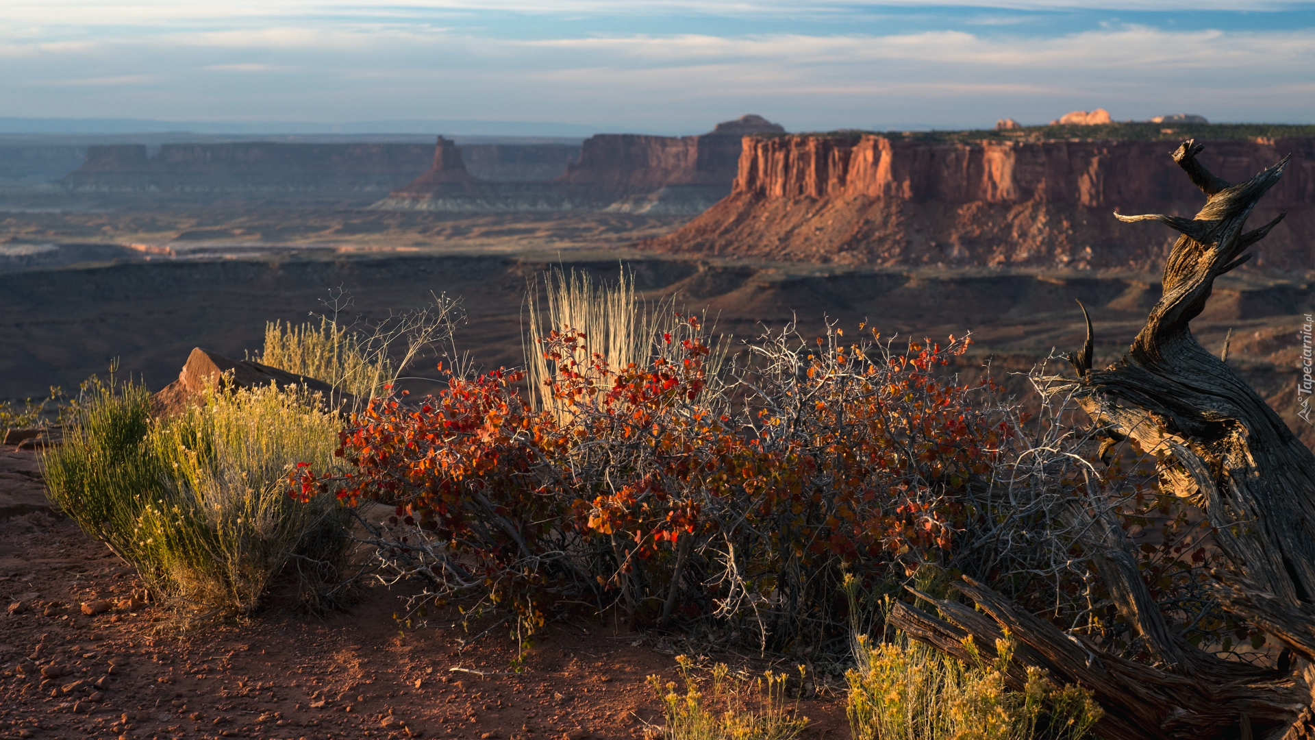
[[[1193,338],[1187,323],[1206,305],[1214,279],[1240,266],[1247,248],[1282,219],[1244,232],[1252,208],[1278,182],[1287,159],[1231,186],[1195,157],[1186,141],[1174,161],[1207,196],[1194,219],[1159,220],[1182,233],[1164,269],[1164,295],[1151,309],[1130,352],[1105,370],[1091,369],[1091,325],[1086,348],[1070,357],[1078,378],[1066,381],[1091,420],[1110,440],[1131,438],[1156,454],[1164,487],[1190,499],[1218,531],[1218,545],[1244,574],[1219,585],[1220,603],[1315,662],[1315,454],[1224,362]],[[1027,650],[1019,660],[1064,681],[1088,686],[1106,708],[1098,728],[1110,737],[1311,737],[1310,682],[1291,666],[1264,670],[1223,661],[1169,629],[1116,527],[1098,527],[1105,552],[1095,558],[1115,606],[1140,633],[1157,666],[1101,650],[1022,614],[999,594],[974,582],[959,590],[990,620],[963,606],[939,602],[936,619],[902,606],[897,627],[951,653],[972,635],[994,644],[1007,627]]]

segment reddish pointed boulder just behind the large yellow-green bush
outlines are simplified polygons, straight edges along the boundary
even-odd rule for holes
[[[230,379],[235,388],[254,388],[270,383],[275,383],[280,388],[300,386],[310,392],[318,392],[325,408],[335,411],[352,408],[356,400],[351,394],[335,391],[333,386],[316,378],[297,375],[250,359],[229,359],[222,354],[195,348],[192,354],[187,357],[183,371],[178,374],[178,381],[164,386],[151,396],[151,416],[167,419],[181,413],[188,406],[197,403],[206,386],[218,383],[220,378],[229,371],[231,371]]]

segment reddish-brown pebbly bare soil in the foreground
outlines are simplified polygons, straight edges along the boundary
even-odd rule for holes
[[[550,624],[514,673],[505,627],[481,636],[441,615],[400,631],[401,591],[377,585],[325,618],[274,606],[184,628],[143,603],[87,615],[142,583],[39,494],[36,453],[0,450],[0,602],[21,604],[0,614],[5,737],[631,739],[661,724],[646,677],[673,679],[677,652],[767,665],[580,614]],[[809,685],[803,737],[847,735],[834,683]]]

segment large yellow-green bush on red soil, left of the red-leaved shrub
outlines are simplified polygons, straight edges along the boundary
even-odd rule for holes
[[[158,423],[145,387],[97,383],[63,446],[42,457],[50,496],[160,595],[250,612],[289,561],[331,570],[347,542],[334,496],[287,495],[297,462],[334,465],[339,421],[313,400],[210,388],[203,406]]]

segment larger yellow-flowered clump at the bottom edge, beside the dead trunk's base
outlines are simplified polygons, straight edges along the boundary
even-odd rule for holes
[[[1101,719],[1090,691],[1059,687],[1035,668],[1022,691],[1009,689],[1016,643],[1007,635],[994,661],[969,639],[972,666],[903,635],[857,643],[859,665],[846,674],[853,740],[1080,740]]]

